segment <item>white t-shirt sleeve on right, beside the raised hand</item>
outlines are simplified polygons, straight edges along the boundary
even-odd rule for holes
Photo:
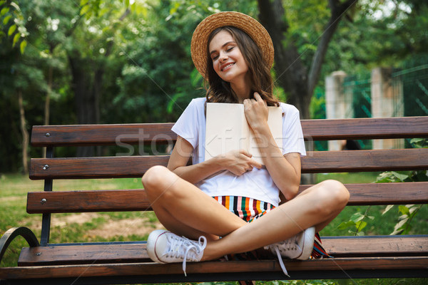
[[[297,108],[289,105],[286,108],[282,123],[282,154],[299,152],[305,156],[305,140],[303,138],[302,125],[300,124],[300,113]]]

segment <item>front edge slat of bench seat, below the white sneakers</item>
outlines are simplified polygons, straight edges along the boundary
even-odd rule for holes
[[[375,269],[427,269],[428,257],[354,257],[335,259],[310,259],[307,261],[285,260],[284,264],[292,274],[292,271],[343,271],[343,270],[375,270]],[[205,261],[188,263],[186,272],[190,274],[226,274],[230,272],[264,272],[280,271],[282,269],[276,260],[258,261]],[[4,272],[4,273],[3,273]],[[7,274],[7,275],[6,275]],[[0,279],[26,278],[60,278],[60,277],[86,277],[86,276],[138,276],[138,275],[168,275],[180,274],[183,276],[182,264],[156,264],[156,263],[131,263],[131,264],[91,264],[67,265],[67,266],[23,266],[4,267],[0,269]],[[427,273],[428,274],[428,273]],[[241,275],[245,276],[245,274]]]

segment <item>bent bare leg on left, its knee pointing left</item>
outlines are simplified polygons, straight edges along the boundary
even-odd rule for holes
[[[170,232],[213,240],[247,224],[166,167],[151,167],[142,182],[156,216]]]

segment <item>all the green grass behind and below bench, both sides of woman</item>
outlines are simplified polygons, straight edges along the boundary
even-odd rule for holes
[[[343,183],[355,182],[373,182],[377,173],[339,173],[317,175],[317,182],[326,179],[335,179]],[[0,235],[4,234],[11,227],[29,227],[34,231],[36,237],[40,238],[41,214],[26,213],[26,193],[29,191],[43,190],[43,181],[31,181],[23,175],[1,175],[0,176]],[[109,190],[109,189],[139,189],[142,188],[139,179],[108,179],[108,180],[60,180],[54,182],[55,191],[65,190]],[[389,234],[394,229],[399,214],[397,209],[392,209],[382,216],[385,206],[370,207],[369,214],[374,216],[374,220],[367,220],[368,223],[365,233]],[[428,207],[424,206],[414,219],[412,234],[426,234],[428,232]],[[348,221],[355,212],[366,211],[367,206],[346,207],[342,213],[325,229],[322,230],[322,236],[330,235],[351,235],[347,230],[337,229],[341,222]],[[55,214],[54,217],[66,219],[73,214]],[[132,230],[128,234],[121,234],[114,237],[104,237],[103,234],[88,234],[93,229],[99,229],[106,224],[124,219],[144,219],[146,225],[151,227],[157,222],[153,212],[106,212],[94,215],[86,222],[67,222],[59,224],[51,229],[51,242],[101,242],[101,241],[125,241],[125,240],[144,240],[147,234],[133,234]],[[153,226],[154,227],[154,226]],[[6,250],[0,266],[16,266],[19,252],[22,247],[27,247],[25,240],[21,237],[16,238]],[[237,284],[236,282],[215,282],[202,284]],[[266,284],[260,281],[257,284]],[[310,281],[271,281],[267,284],[428,284],[427,279],[355,279],[355,280],[310,280]]]

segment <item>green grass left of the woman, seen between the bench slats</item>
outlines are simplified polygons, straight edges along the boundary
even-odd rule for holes
[[[103,179],[103,180],[58,180],[54,182],[54,191],[66,190],[113,190],[113,189],[139,189],[141,180],[131,179]],[[31,191],[43,191],[43,181],[33,181],[28,176],[8,174],[0,176],[0,235],[11,227],[29,227],[36,237],[40,239],[41,214],[26,213],[26,194]],[[103,235],[88,235],[91,229],[107,224],[111,220],[144,218],[156,222],[153,212],[113,212],[99,213],[86,222],[70,222],[51,228],[50,242],[105,242],[116,240],[143,240],[147,235],[131,234],[129,237],[116,236],[105,238]],[[52,219],[61,219],[73,214],[53,214]],[[9,245],[1,260],[0,266],[16,266],[19,252],[22,247],[28,247],[22,237],[14,239]]]

